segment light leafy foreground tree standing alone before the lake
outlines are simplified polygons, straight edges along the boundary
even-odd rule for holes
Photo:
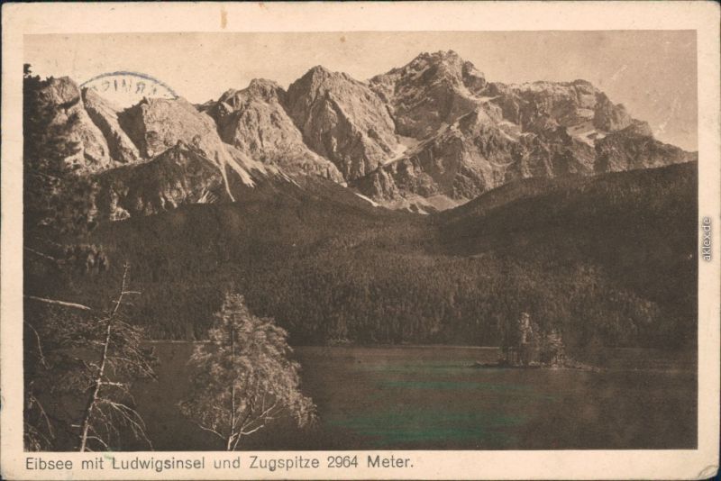
[[[226,450],[281,416],[299,427],[313,422],[315,405],[300,391],[300,366],[288,358],[287,332],[254,316],[242,295],[226,294],[215,317],[209,342],[188,361],[191,386],[180,412]]]

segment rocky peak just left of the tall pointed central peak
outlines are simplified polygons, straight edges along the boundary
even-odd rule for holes
[[[270,80],[255,79],[243,90],[229,90],[205,106],[221,139],[287,174],[310,174],[343,183],[333,162],[310,150],[286,113],[286,92]]]

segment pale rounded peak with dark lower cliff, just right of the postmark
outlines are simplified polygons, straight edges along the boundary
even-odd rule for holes
[[[182,98],[145,98],[119,113],[118,120],[141,157],[149,160],[131,166],[130,172],[116,169],[103,177],[104,205],[111,217],[233,201],[235,181],[254,186],[278,175],[221,141],[213,119]]]

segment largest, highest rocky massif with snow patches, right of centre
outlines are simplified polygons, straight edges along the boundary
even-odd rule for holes
[[[695,159],[655,141],[648,124],[584,80],[488,83],[470,62],[447,51],[422,54],[370,85],[388,102],[397,133],[417,141],[352,183],[391,206],[427,212],[518,178]]]

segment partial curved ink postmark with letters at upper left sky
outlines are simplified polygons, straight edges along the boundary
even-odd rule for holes
[[[143,97],[178,98],[175,91],[157,78],[139,72],[117,71],[92,77],[80,85],[92,88],[118,106],[137,104]]]

